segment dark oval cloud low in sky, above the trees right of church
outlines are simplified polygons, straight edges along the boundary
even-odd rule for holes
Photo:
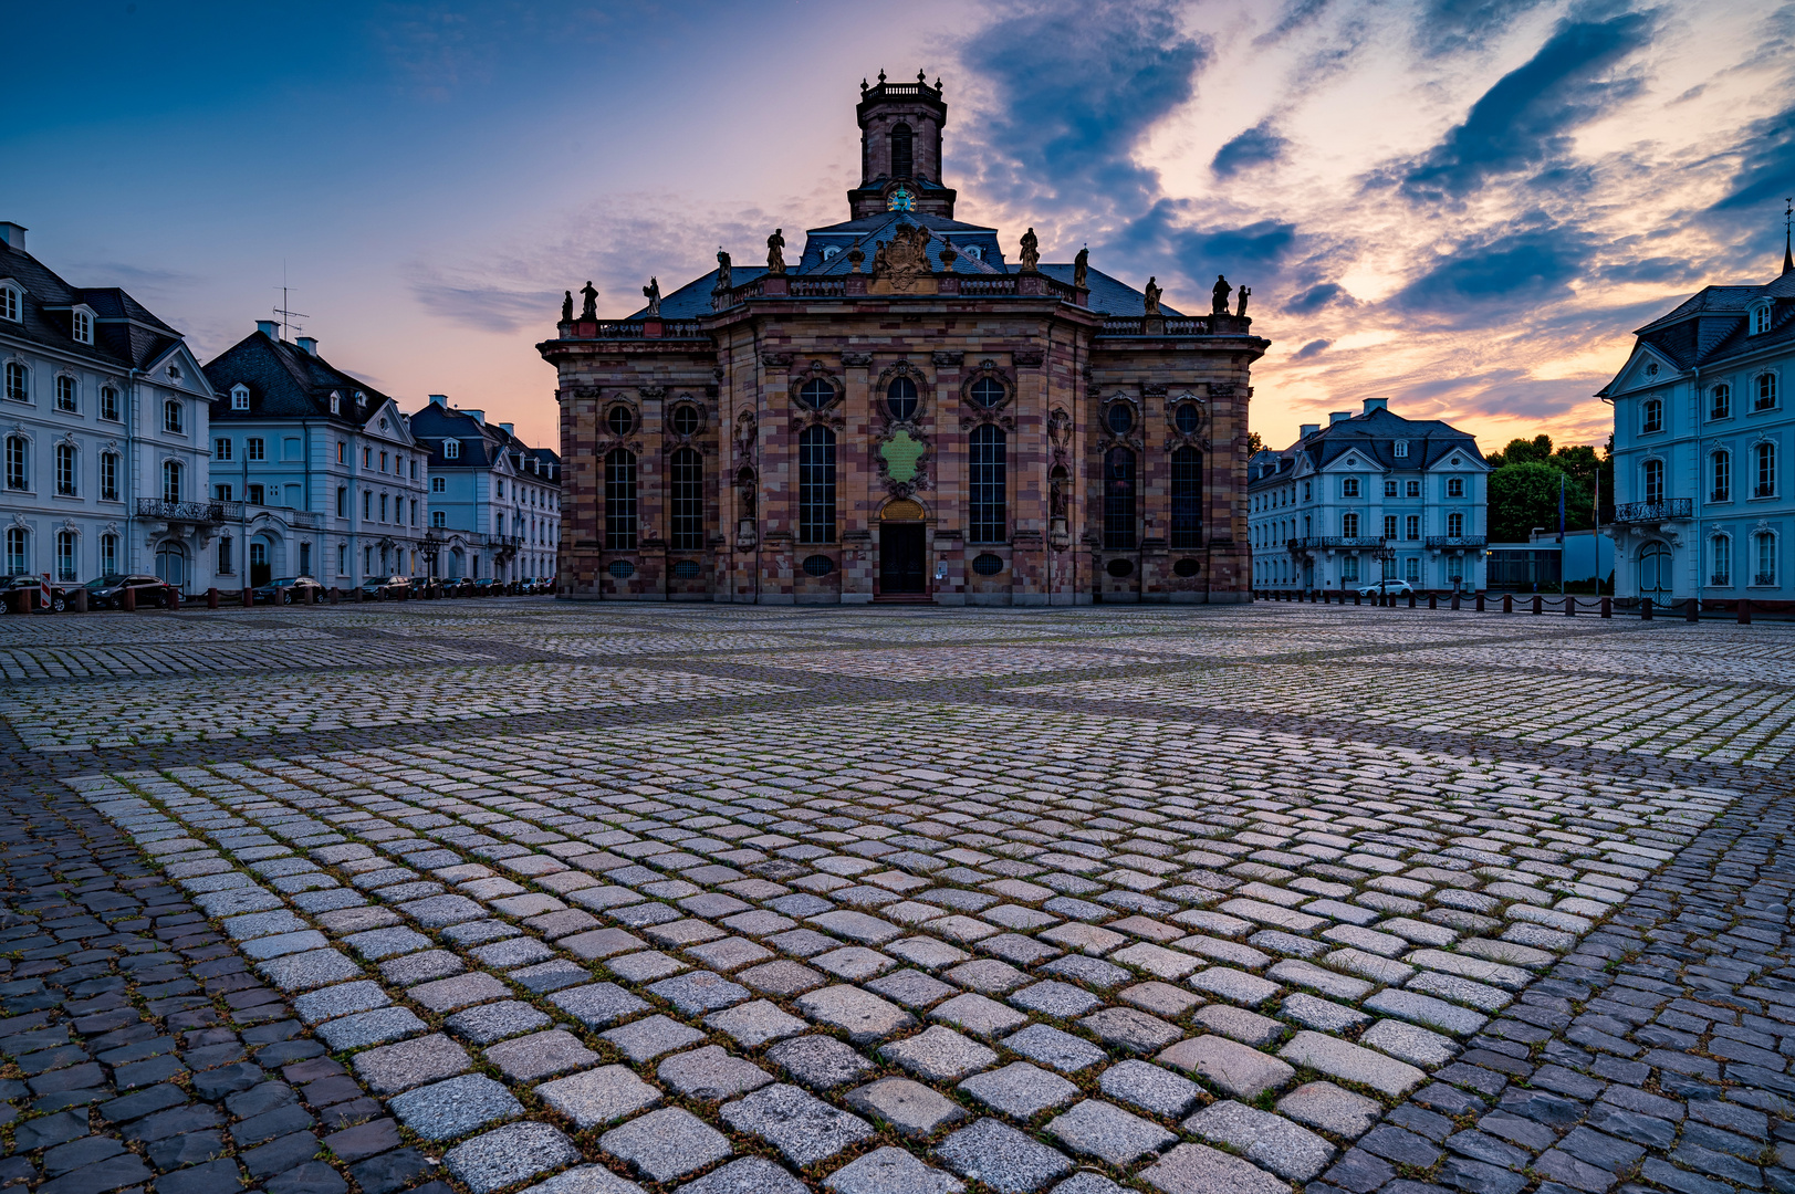
[[[1517,232],[1445,255],[1400,289],[1391,305],[1461,327],[1506,320],[1515,307],[1569,298],[1569,282],[1583,273],[1589,259],[1589,239],[1576,230]]]

